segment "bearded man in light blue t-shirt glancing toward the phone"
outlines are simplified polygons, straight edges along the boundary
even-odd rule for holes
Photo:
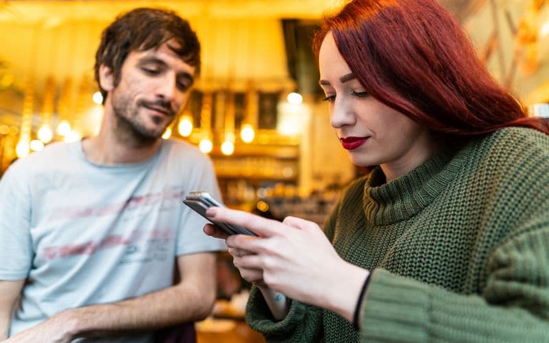
[[[132,10],[103,32],[100,133],[0,181],[0,340],[152,342],[209,314],[225,247],[181,199],[219,198],[218,185],[209,158],[161,139],[199,68],[196,34],[173,12]]]

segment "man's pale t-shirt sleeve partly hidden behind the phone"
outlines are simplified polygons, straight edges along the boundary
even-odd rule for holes
[[[221,192],[213,169],[213,163],[206,156],[202,156],[194,164],[194,171],[187,187],[189,191],[207,191],[210,195],[222,201]],[[183,206],[183,205],[182,205]],[[224,251],[225,241],[210,237],[204,233],[204,226],[208,221],[192,211],[188,206],[183,206],[180,230],[177,238],[176,255],[187,255],[196,252]]]

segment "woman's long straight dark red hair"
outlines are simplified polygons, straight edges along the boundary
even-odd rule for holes
[[[453,136],[507,126],[549,134],[549,123],[524,107],[484,67],[454,16],[434,0],[353,0],[325,19],[365,90],[387,106]]]

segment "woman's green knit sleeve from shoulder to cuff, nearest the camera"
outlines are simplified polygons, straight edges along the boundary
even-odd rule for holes
[[[505,144],[482,158],[500,173],[491,174],[485,220],[493,231],[484,232],[497,242],[479,261],[478,291],[458,294],[376,269],[361,304],[362,342],[549,341],[549,145],[544,134],[524,132],[493,135]]]

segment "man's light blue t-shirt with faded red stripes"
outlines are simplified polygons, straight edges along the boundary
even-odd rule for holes
[[[195,190],[220,199],[210,159],[180,141],[135,164],[95,165],[80,141],[16,161],[0,180],[0,280],[27,280],[10,335],[65,309],[164,289],[177,256],[225,250],[182,204]]]

